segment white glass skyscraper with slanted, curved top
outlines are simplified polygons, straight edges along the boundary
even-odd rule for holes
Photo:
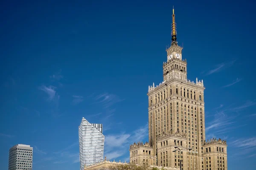
[[[79,126],[80,170],[103,160],[104,140],[102,124],[91,124],[83,117]]]

